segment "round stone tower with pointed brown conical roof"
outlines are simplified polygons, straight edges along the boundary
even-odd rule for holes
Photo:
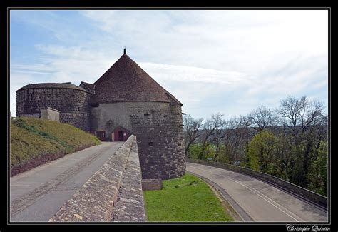
[[[91,131],[126,128],[138,140],[143,179],[185,173],[182,104],[126,54],[94,84]]]

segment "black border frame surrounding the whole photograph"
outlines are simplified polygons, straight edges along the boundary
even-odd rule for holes
[[[63,6],[57,6],[58,4],[63,4]],[[79,6],[79,5],[84,5],[84,6]],[[7,162],[6,162],[6,168],[1,168],[1,171],[5,171],[4,175],[2,176],[6,176],[6,191],[7,191],[7,198],[6,198],[6,209],[7,209],[7,216],[6,217],[1,217],[1,219],[6,218],[6,223],[5,226],[3,226],[3,224],[1,223],[1,227],[0,227],[0,231],[7,231],[7,229],[10,228],[14,228],[14,226],[19,226],[21,228],[21,226],[32,226],[32,225],[36,225],[36,226],[42,226],[42,225],[197,225],[197,226],[226,226],[227,228],[230,229],[240,229],[240,228],[245,228],[246,230],[250,230],[253,229],[257,229],[257,226],[262,226],[262,227],[268,227],[268,231],[287,231],[287,223],[250,223],[250,222],[245,222],[245,223],[43,223],[43,222],[39,222],[39,223],[11,223],[9,221],[9,56],[10,56],[10,11],[11,10],[81,10],[81,9],[99,9],[99,10],[257,10],[257,9],[263,9],[263,10],[327,10],[328,11],[328,26],[329,26],[329,35],[328,35],[328,39],[329,39],[329,46],[328,46],[328,116],[329,116],[329,128],[328,128],[328,141],[329,141],[329,166],[328,166],[328,178],[329,178],[329,186],[328,186],[328,222],[327,223],[297,223],[297,224],[292,224],[293,226],[297,227],[300,226],[302,228],[309,226],[309,228],[312,228],[313,225],[318,225],[319,227],[328,227],[331,229],[331,231],[337,231],[337,225],[334,225],[333,222],[335,223],[337,221],[337,218],[332,218],[332,175],[334,175],[334,171],[331,168],[331,164],[334,160],[334,156],[331,156],[331,7],[325,6],[325,7],[237,7],[237,6],[229,6],[229,7],[206,7],[206,6],[196,6],[196,7],[189,7],[189,6],[173,6],[173,7],[169,7],[167,4],[160,4],[160,3],[156,3],[158,5],[162,5],[162,6],[156,6],[156,7],[151,7],[151,6],[126,6],[126,4],[123,3],[115,3],[118,6],[114,6],[114,7],[107,7],[106,5],[108,4],[108,1],[105,1],[103,3],[100,3],[100,1],[96,2],[96,4],[101,4],[97,7],[95,6],[90,6],[90,4],[88,3],[83,3],[83,1],[73,1],[73,2],[62,2],[59,1],[57,4],[54,1],[46,1],[43,2],[43,4],[36,4],[30,1],[16,1],[15,4],[11,3],[11,4],[7,4],[6,6],[6,11],[2,11],[3,14],[1,14],[2,17],[2,21],[5,21],[5,17],[6,17],[6,31],[4,31],[3,36],[6,35],[6,39],[5,39],[5,43],[6,43],[6,97],[7,97],[7,114],[6,114],[6,132],[7,132],[7,139],[6,139],[6,150],[7,150]],[[16,6],[15,6],[16,5]],[[43,6],[41,6],[43,5]],[[68,6],[65,6],[68,5]],[[144,4],[143,4],[144,5]],[[163,6],[163,5],[167,5],[167,6]],[[106,6],[106,7],[105,7]],[[1,51],[3,51],[4,54],[4,47],[1,47]],[[5,65],[5,63],[3,63],[3,65]],[[5,70],[5,69],[3,69]],[[4,115],[3,115],[4,116]],[[2,162],[1,162],[2,163]],[[335,163],[335,162],[334,162]],[[4,163],[2,163],[4,164]],[[4,201],[3,201],[4,202]],[[4,206],[1,206],[1,208],[5,208]],[[240,228],[238,228],[238,226],[240,226]],[[250,228],[248,227],[250,226]],[[254,226],[254,228],[252,228],[251,226]],[[43,226],[43,228],[45,228]],[[262,228],[259,228],[260,230],[262,230]],[[264,229],[264,228],[263,228]]]

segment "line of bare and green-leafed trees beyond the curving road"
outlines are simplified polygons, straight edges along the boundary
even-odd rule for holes
[[[230,163],[268,173],[327,196],[327,121],[324,106],[288,96],[277,109],[260,106],[225,120],[183,116],[189,158]]]

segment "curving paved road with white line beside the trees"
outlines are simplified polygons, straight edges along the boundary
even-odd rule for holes
[[[322,209],[250,176],[197,163],[187,163],[187,171],[220,186],[228,195],[225,198],[230,196],[230,201],[237,203],[234,208],[240,207],[252,221],[327,221],[327,212]]]

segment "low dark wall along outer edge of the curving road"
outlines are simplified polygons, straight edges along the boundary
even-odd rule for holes
[[[241,166],[235,166],[227,163],[219,163],[213,161],[204,161],[193,158],[187,158],[187,162],[190,163],[200,163],[208,166],[214,166],[217,168],[224,168],[230,171],[237,171],[239,173],[244,173],[248,176],[252,176],[254,178],[258,178],[262,181],[272,184],[277,188],[281,188],[288,193],[294,194],[295,196],[302,198],[304,201],[308,201],[310,203],[314,203],[320,208],[324,208],[327,210],[327,197],[322,196],[318,193],[314,193],[313,191],[309,191],[306,188],[302,188],[300,186],[295,185],[294,183],[287,182],[282,180],[281,178],[277,178],[275,176],[271,176],[267,173],[262,173],[260,171],[254,171],[252,169],[243,168]]]

